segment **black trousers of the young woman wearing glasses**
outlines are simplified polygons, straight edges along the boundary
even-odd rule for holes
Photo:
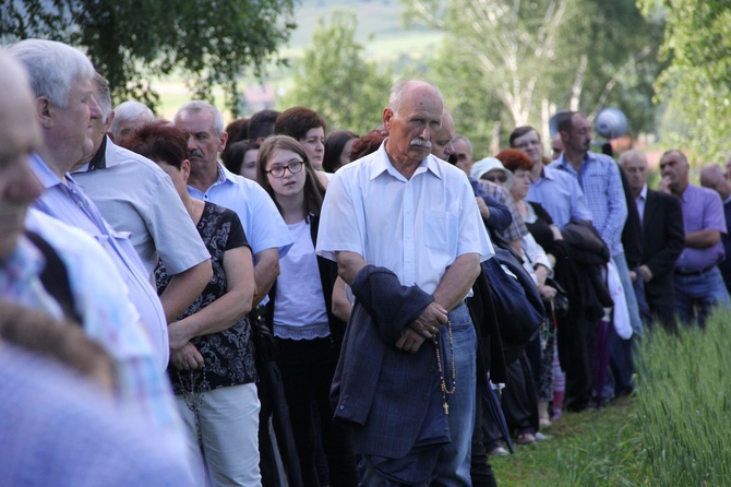
[[[304,485],[320,485],[315,468],[317,431],[313,421],[314,406],[320,418],[331,485],[357,486],[351,431],[347,426],[333,420],[333,406],[329,402],[337,352],[332,348],[329,338],[276,341],[277,361],[281,370]]]

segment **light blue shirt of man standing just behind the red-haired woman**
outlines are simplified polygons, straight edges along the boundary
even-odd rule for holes
[[[576,178],[549,166],[543,167],[538,181],[530,182],[526,201],[540,203],[559,228],[570,222],[591,219],[586,197]]]

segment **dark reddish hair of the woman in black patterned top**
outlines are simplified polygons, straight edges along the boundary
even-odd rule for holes
[[[155,120],[132,132],[127,149],[180,169],[188,158],[188,135],[167,120]]]

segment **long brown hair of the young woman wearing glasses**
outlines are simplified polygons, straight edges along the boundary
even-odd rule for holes
[[[299,155],[304,163],[304,212],[310,215],[319,215],[322,207],[322,200],[325,195],[325,188],[320,183],[317,174],[315,173],[310,159],[304,152],[304,149],[295,139],[288,135],[273,135],[262,142],[259,147],[259,156],[256,157],[256,180],[264,188],[264,190],[272,197],[274,204],[281,213],[279,203],[277,203],[276,194],[269,185],[269,179],[266,175],[266,163],[274,156],[277,151],[290,151]]]

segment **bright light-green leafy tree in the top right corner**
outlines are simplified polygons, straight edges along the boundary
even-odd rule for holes
[[[669,66],[657,80],[670,120],[663,145],[700,162],[731,155],[731,4],[726,0],[639,0],[648,17],[666,16],[661,56]]]

